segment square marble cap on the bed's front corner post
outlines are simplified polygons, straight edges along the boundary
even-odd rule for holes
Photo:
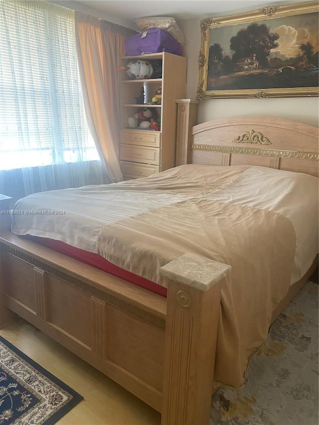
[[[209,289],[231,270],[231,266],[194,254],[183,254],[162,266],[160,275],[202,291]]]

